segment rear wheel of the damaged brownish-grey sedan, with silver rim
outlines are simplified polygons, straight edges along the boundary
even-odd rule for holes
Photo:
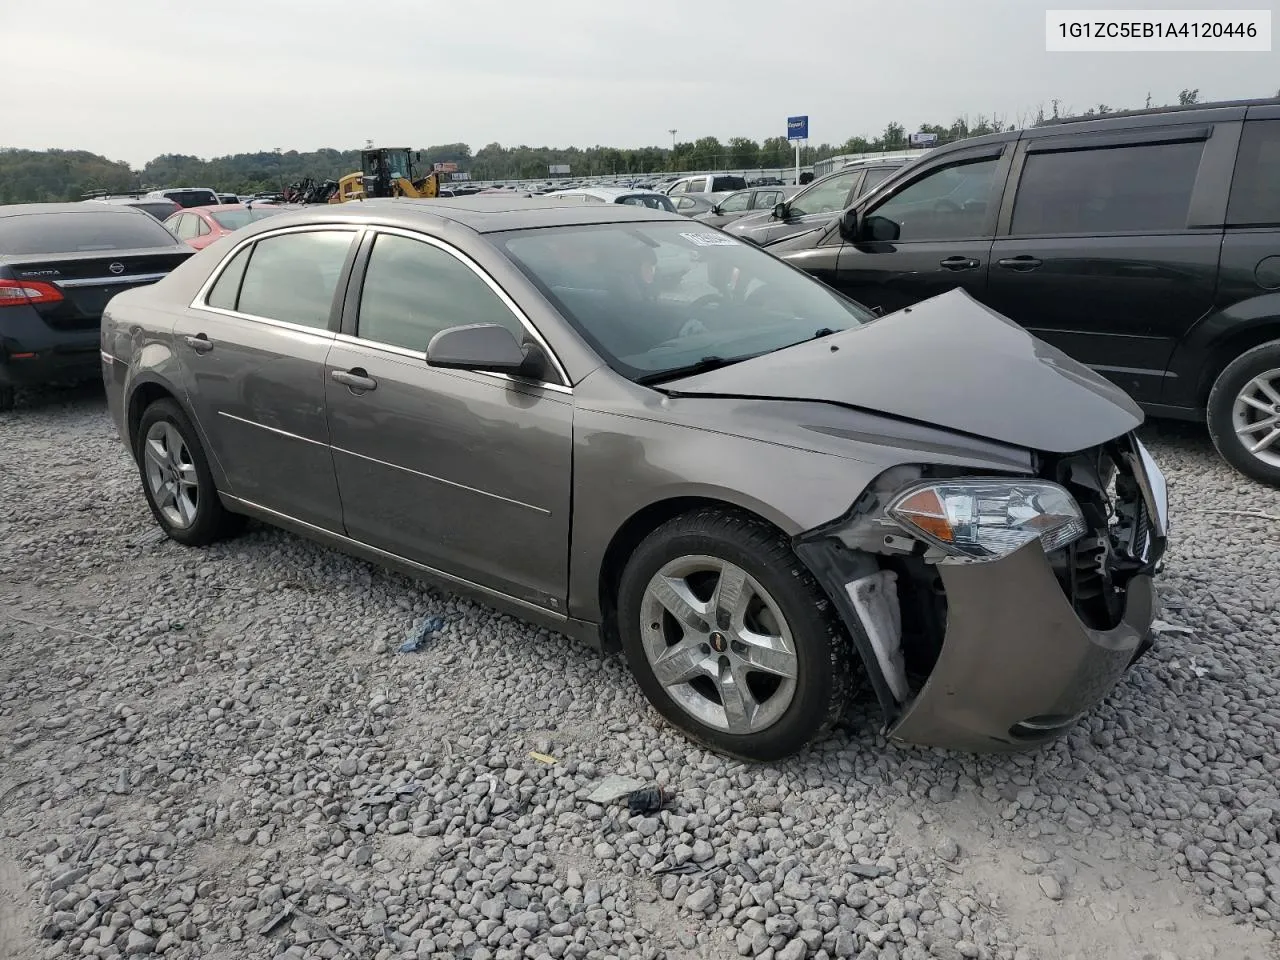
[[[243,518],[218,498],[195,426],[172,399],[143,411],[133,453],[151,515],[172,540],[205,547],[241,529]]]

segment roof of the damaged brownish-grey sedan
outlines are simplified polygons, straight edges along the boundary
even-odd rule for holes
[[[376,198],[348,204],[317,204],[314,209],[294,210],[261,220],[264,229],[289,224],[333,223],[334,220],[369,220],[376,216],[387,225],[407,228],[430,225],[444,219],[476,233],[529,230],[540,227],[572,227],[598,223],[630,223],[635,220],[684,221],[680,214],[653,210],[632,204],[582,204],[556,197],[435,197],[434,200]],[[256,224],[255,224],[256,225]]]

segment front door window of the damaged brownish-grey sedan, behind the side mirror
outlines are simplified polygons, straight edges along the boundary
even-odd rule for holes
[[[360,294],[360,335],[425,352],[431,337],[462,324],[502,324],[525,338],[516,315],[461,260],[430,243],[380,236]]]

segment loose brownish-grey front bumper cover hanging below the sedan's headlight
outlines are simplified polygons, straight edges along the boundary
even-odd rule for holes
[[[989,563],[942,564],[947,630],[893,740],[970,751],[1023,750],[1066,731],[1149,644],[1156,588],[1139,575],[1120,622],[1092,630],[1038,543]]]

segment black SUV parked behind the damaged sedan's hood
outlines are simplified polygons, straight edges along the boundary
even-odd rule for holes
[[[1280,485],[1280,100],[950,143],[768,248],[883,311],[964,287]]]

